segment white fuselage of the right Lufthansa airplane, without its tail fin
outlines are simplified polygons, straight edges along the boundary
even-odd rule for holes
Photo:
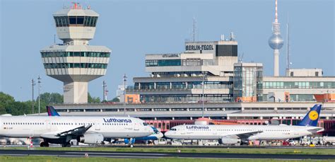
[[[179,125],[165,133],[171,139],[221,139],[236,134],[248,134],[247,140],[281,140],[312,134],[310,129],[320,127],[288,125]]]

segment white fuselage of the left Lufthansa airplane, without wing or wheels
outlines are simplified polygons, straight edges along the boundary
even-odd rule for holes
[[[57,138],[54,134],[76,127],[92,125],[87,132],[105,138],[135,138],[152,134],[150,126],[133,117],[0,117],[1,137]]]

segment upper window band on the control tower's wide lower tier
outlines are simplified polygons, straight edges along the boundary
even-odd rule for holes
[[[41,52],[42,57],[110,57],[110,52]]]

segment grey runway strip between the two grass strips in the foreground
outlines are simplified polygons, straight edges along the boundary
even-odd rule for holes
[[[0,150],[0,156],[59,156],[59,157],[106,157],[106,158],[263,158],[282,160],[325,160],[335,159],[334,155],[297,154],[216,154],[216,153],[155,153],[155,152],[114,152],[114,151],[46,151],[46,150]]]

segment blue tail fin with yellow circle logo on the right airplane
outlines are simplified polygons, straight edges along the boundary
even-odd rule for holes
[[[298,123],[298,125],[317,127],[317,121],[319,120],[321,108],[322,105],[314,105],[313,108],[310,108],[310,111],[307,112],[305,117]]]

